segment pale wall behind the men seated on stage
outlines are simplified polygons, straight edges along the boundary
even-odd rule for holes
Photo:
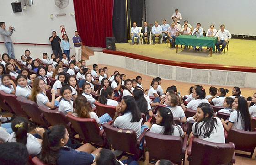
[[[181,25],[185,20],[193,27],[199,22],[207,30],[211,24],[216,29],[225,24],[231,34],[256,36],[255,7],[256,0],[147,0],[147,21],[151,24],[167,19],[170,23],[178,8]]]

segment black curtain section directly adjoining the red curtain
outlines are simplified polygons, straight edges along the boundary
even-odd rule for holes
[[[126,0],[115,0],[112,23],[116,43],[127,43]]]

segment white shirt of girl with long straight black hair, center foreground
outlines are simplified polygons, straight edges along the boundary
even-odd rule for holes
[[[125,113],[116,118],[114,121],[114,127],[121,129],[132,129],[136,132],[137,138],[139,138],[142,118],[139,120],[139,122],[130,122],[132,118],[133,116],[131,112]]]

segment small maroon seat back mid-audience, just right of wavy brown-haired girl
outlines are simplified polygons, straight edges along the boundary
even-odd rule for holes
[[[97,111],[98,117],[101,117],[105,113],[109,114],[109,116],[112,119],[115,117],[115,113],[116,113],[115,106],[107,106],[107,105],[101,104],[99,102],[95,102],[94,104],[96,106],[96,111]]]

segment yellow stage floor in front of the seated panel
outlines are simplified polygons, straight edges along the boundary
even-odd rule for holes
[[[195,52],[191,47],[189,50],[181,50],[179,45],[178,53],[176,49],[168,48],[167,43],[155,45],[131,45],[129,43],[116,43],[117,51],[123,51],[133,54],[139,54],[157,59],[166,59],[171,61],[200,63],[200,64],[221,64],[230,66],[256,67],[256,41],[231,39],[229,41],[228,53],[213,53],[206,51]]]

